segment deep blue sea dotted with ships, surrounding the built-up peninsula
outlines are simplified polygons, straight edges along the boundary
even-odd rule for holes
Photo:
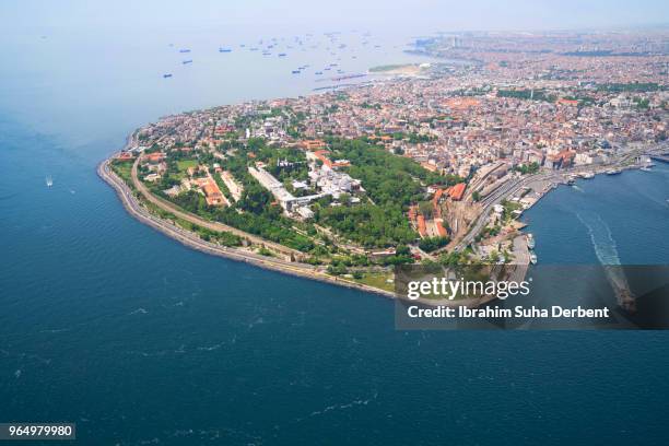
[[[310,94],[330,63],[425,60],[387,34],[3,35],[0,422],[77,423],[80,445],[669,442],[666,332],[397,330],[391,301],[189,249],[96,176],[161,116]],[[667,265],[667,199],[658,165],[560,187],[525,219],[542,263]]]

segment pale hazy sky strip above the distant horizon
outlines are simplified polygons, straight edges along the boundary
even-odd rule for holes
[[[667,0],[2,0],[4,31],[40,27],[266,26],[318,32],[403,26],[412,33],[565,30],[669,22]]]

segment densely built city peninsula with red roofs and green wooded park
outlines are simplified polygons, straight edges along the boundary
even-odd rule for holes
[[[648,169],[664,153],[668,42],[419,39],[413,52],[443,61],[165,117],[133,133],[114,169],[204,242],[310,274],[391,291],[392,265],[527,265],[537,258],[516,220],[525,209],[556,184]],[[203,220],[175,218],[174,206]]]

